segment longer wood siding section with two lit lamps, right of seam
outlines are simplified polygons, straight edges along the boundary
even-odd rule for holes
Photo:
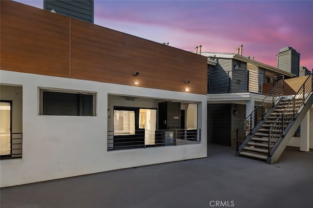
[[[72,20],[71,77],[206,94],[206,57]],[[139,72],[135,77],[134,72]]]

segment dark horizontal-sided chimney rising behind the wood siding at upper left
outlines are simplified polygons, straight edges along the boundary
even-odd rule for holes
[[[70,18],[93,23],[93,0],[44,0],[44,9]]]

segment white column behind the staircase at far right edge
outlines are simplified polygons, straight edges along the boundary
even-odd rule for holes
[[[300,151],[310,151],[310,111],[307,112],[301,122]]]

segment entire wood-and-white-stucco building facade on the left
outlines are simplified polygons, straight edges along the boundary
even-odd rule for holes
[[[205,57],[0,4],[1,187],[206,157]]]

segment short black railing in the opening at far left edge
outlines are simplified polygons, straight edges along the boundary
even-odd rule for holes
[[[22,133],[0,134],[0,159],[22,158]]]

